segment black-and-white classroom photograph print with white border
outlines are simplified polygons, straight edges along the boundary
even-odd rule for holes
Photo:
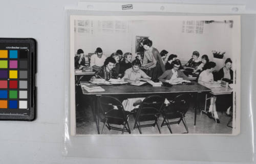
[[[237,135],[239,16],[70,17],[71,134]]]

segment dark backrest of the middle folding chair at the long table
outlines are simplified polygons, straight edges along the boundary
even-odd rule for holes
[[[163,97],[158,95],[148,96],[142,101],[137,115],[143,115],[143,114],[154,115],[156,113],[160,113],[163,108],[163,104],[164,104]]]

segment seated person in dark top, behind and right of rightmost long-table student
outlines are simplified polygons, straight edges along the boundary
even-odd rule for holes
[[[197,69],[197,67],[202,63],[199,59],[199,55],[200,54],[198,51],[194,51],[192,54],[192,58],[188,60],[188,62],[184,65],[184,73],[186,75],[193,74],[194,69]]]

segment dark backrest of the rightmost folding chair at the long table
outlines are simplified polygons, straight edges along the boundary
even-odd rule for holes
[[[185,114],[190,106],[191,96],[189,94],[178,95],[170,106],[172,111]]]

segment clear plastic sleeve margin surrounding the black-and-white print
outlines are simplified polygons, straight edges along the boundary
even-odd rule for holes
[[[65,54],[65,120],[63,135],[63,155],[69,157],[90,157],[90,158],[126,158],[126,159],[158,159],[158,160],[197,160],[197,161],[239,161],[246,162],[253,160],[253,94],[255,95],[255,14],[244,14],[243,5],[230,5],[230,11],[225,12],[227,8],[223,6],[209,5],[208,14],[207,7],[202,7],[202,13],[197,13],[188,7],[186,13],[181,6],[176,6],[175,12],[168,10],[170,4],[144,4],[136,6],[133,3],[134,11],[127,11],[121,8],[116,9],[116,4],[110,3],[109,6],[113,11],[103,10],[101,3],[80,3],[78,7],[66,9],[66,54]],[[100,6],[97,8],[97,5]],[[106,4],[103,4],[103,6]],[[151,10],[152,5],[157,6],[157,10]],[[110,7],[110,8],[111,8]],[[129,6],[128,6],[129,7]],[[137,7],[137,8],[136,8]],[[184,7],[187,7],[186,5]],[[191,6],[190,6],[191,7]],[[226,6],[227,7],[227,6]],[[146,8],[146,9],[145,9]],[[195,7],[196,8],[196,7]],[[235,8],[235,9],[234,9]],[[102,11],[103,10],[103,11]],[[238,12],[238,11],[239,12]],[[242,11],[241,11],[242,10]],[[183,12],[180,12],[183,11]],[[72,15],[77,16],[202,16],[207,19],[211,16],[233,16],[240,15],[241,27],[236,38],[241,40],[240,45],[231,43],[232,49],[239,53],[238,61],[234,62],[238,65],[236,76],[239,94],[236,95],[240,103],[237,104],[236,126],[239,130],[233,135],[218,134],[193,134],[193,135],[76,135],[72,128],[75,127],[75,112],[71,112],[71,105],[74,104],[75,89],[71,88],[72,73],[74,69],[73,57],[71,55],[71,33],[70,27],[74,22],[70,21]],[[207,19],[208,20],[208,19]],[[240,29],[241,28],[241,29]],[[78,29],[76,29],[78,30]],[[241,30],[241,31],[240,31]],[[225,35],[225,33],[223,34]],[[220,38],[221,39],[221,38]],[[241,58],[241,61],[240,61]],[[241,67],[241,73],[240,73]],[[240,89],[241,88],[241,89]]]

